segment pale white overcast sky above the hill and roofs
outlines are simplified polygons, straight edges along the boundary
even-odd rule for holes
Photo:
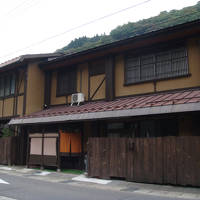
[[[52,53],[75,38],[109,34],[118,25],[198,1],[0,0],[0,63],[24,54]]]

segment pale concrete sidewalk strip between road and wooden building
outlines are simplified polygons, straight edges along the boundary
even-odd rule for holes
[[[0,165],[0,173],[14,176],[23,176],[59,184],[69,184],[78,187],[93,187],[102,190],[116,190],[122,192],[133,192],[163,197],[174,197],[184,199],[200,199],[200,188],[165,186],[156,184],[134,183],[120,180],[88,179],[84,174],[68,174],[63,172],[48,172],[46,170],[28,169],[24,166]],[[1,178],[1,176],[0,176]]]

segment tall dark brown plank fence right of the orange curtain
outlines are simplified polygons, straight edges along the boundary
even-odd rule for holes
[[[200,137],[90,138],[88,175],[200,186]]]

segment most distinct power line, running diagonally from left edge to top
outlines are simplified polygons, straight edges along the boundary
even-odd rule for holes
[[[126,11],[126,10],[129,10],[129,9],[132,9],[132,8],[135,8],[135,7],[138,7],[138,6],[141,6],[141,5],[146,4],[146,3],[150,2],[150,1],[152,1],[152,0],[145,0],[145,1],[143,1],[143,2],[140,2],[140,3],[138,3],[138,4],[134,4],[134,5],[129,6],[129,7],[127,7],[127,8],[118,10],[118,11],[116,11],[116,12],[110,13],[110,14],[105,15],[105,16],[103,16],[103,17],[99,17],[99,18],[97,18],[97,19],[91,20],[91,21],[86,22],[86,23],[84,23],[84,24],[81,24],[81,25],[78,25],[78,26],[73,27],[73,28],[71,28],[71,29],[68,29],[68,30],[66,30],[66,31],[64,31],[64,32],[62,32],[62,33],[58,33],[58,34],[56,34],[56,35],[53,35],[53,36],[48,37],[48,38],[46,38],[46,39],[43,39],[43,40],[41,40],[41,41],[39,41],[39,42],[32,43],[32,44],[30,44],[30,45],[28,45],[28,46],[26,46],[26,47],[24,47],[24,48],[21,48],[21,49],[18,49],[18,50],[16,50],[16,51],[13,51],[13,52],[11,52],[11,53],[8,53],[8,54],[6,54],[6,55],[4,55],[4,56],[2,56],[2,57],[0,57],[0,58],[10,56],[10,55],[12,55],[12,54],[14,54],[14,53],[17,53],[17,52],[20,52],[20,51],[29,49],[30,47],[33,47],[33,46],[37,46],[37,45],[39,45],[39,44],[41,44],[41,43],[44,43],[44,42],[46,42],[46,41],[48,41],[48,40],[51,40],[51,39],[54,39],[54,38],[59,37],[59,36],[61,36],[61,35],[64,35],[64,34],[66,34],[66,33],[72,32],[72,31],[74,31],[74,30],[76,30],[76,29],[79,29],[79,28],[82,28],[82,27],[84,27],[84,26],[93,24],[93,23],[95,23],[95,22],[97,22],[97,21],[100,21],[100,20],[103,20],[103,19],[105,19],[105,18],[111,17],[111,16],[113,16],[113,15],[116,15],[116,14],[118,14],[118,13],[124,12],[124,11]]]

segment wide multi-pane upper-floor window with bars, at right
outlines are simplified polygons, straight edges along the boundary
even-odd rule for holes
[[[125,58],[125,84],[184,76],[189,73],[185,47],[128,55]]]

